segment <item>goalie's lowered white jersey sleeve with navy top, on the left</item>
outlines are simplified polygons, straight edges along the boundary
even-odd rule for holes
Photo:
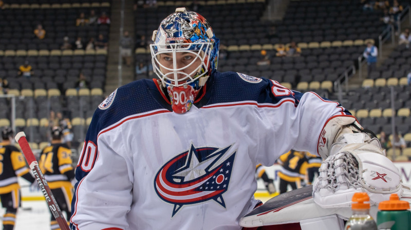
[[[110,116],[110,110],[98,109],[87,131],[76,168],[71,229],[128,229],[133,167],[123,155],[129,150],[121,127],[105,124],[107,112]]]

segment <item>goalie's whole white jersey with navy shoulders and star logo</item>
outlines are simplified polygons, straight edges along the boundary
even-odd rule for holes
[[[184,100],[184,95],[178,95]],[[273,80],[215,72],[191,109],[158,80],[116,89],[94,113],[76,169],[71,229],[240,229],[258,201],[255,166],[317,152],[339,103]]]

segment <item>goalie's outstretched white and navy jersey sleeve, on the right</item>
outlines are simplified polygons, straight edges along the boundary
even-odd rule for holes
[[[301,93],[269,80],[261,93],[260,111],[266,117],[268,137],[261,146],[257,162],[272,164],[290,149],[318,155],[318,145],[324,125],[338,116],[352,117],[338,102],[321,98],[315,92]],[[261,159],[262,158],[262,159]]]

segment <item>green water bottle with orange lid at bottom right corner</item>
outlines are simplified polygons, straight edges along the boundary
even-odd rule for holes
[[[377,225],[381,230],[411,229],[411,212],[409,203],[400,200],[397,194],[391,194],[389,200],[378,205]]]

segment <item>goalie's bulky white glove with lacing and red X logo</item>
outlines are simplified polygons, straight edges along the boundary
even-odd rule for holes
[[[371,205],[388,200],[393,193],[402,196],[400,172],[384,156],[378,140],[365,133],[345,134],[333,148],[339,153],[323,161],[320,176],[313,184],[313,197],[318,205],[349,207],[357,192],[367,193]]]

